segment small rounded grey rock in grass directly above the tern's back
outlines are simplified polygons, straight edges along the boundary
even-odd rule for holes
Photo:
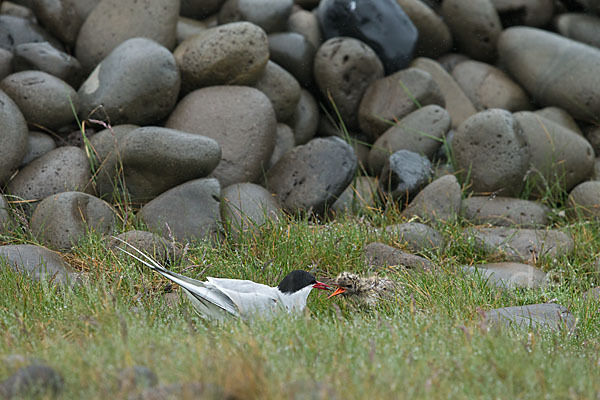
[[[260,234],[263,225],[276,223],[282,215],[277,200],[262,186],[236,183],[223,189],[221,216],[234,237]]]

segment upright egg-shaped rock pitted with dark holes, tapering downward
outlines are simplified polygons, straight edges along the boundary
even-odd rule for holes
[[[335,37],[317,50],[313,71],[325,102],[336,110],[333,115],[339,112],[348,129],[357,129],[360,100],[371,82],[384,75],[375,52],[359,40]]]

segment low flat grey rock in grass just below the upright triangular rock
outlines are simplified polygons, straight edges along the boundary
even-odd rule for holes
[[[401,244],[409,251],[441,250],[445,246],[444,237],[440,232],[419,222],[389,225],[385,231],[395,243]]]

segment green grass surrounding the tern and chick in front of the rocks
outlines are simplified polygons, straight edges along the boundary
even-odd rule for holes
[[[399,221],[393,210],[320,224],[282,221],[236,241],[196,243],[172,268],[271,285],[295,268],[319,277],[367,273],[364,245],[401,247],[378,229]],[[67,257],[87,273],[84,285],[59,289],[0,268],[0,359],[45,360],[64,376],[66,399],[127,398],[117,377],[132,365],[149,367],[161,384],[202,382],[243,399],[598,398],[600,305],[581,294],[600,282],[600,225],[562,221],[575,253],[538,260],[554,284],[512,291],[459,272],[487,257],[460,237],[464,225],[437,226],[450,244],[423,255],[438,272],[382,271],[404,290],[377,308],[319,292],[302,315],[220,325],[198,318],[178,290],[182,301],[169,306],[166,281],[92,234]],[[29,239],[15,233],[3,241]],[[488,330],[481,320],[481,310],[551,299],[576,316],[575,333]],[[0,363],[0,379],[12,372]]]

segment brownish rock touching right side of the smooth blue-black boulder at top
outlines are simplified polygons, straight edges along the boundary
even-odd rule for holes
[[[452,48],[450,29],[435,11],[420,0],[396,1],[419,32],[415,55],[436,58],[450,51]]]

